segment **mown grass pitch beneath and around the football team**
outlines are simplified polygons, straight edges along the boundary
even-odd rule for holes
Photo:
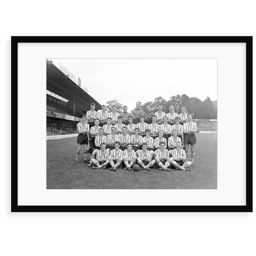
[[[76,137],[47,140],[47,189],[216,189],[217,134],[196,133],[195,165],[190,172],[170,172],[151,168],[138,172],[118,168],[116,172],[92,170],[83,161],[78,164]],[[190,155],[189,155],[190,157]]]

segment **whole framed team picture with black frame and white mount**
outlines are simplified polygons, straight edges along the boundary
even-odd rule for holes
[[[252,37],[11,44],[12,212],[252,212]]]

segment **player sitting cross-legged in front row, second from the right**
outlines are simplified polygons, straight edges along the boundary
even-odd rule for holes
[[[170,157],[169,151],[166,149],[166,143],[160,142],[160,148],[155,151],[155,161],[156,161],[156,168],[159,170],[164,170],[170,172],[170,164],[172,163],[173,158]]]

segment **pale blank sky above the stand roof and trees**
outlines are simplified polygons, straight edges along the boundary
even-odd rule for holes
[[[137,101],[186,94],[217,100],[216,59],[50,59],[82,80],[100,104],[116,99],[130,112]]]

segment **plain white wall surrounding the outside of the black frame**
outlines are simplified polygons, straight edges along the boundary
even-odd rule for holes
[[[1,255],[254,254],[255,212],[10,213],[11,35],[256,36],[254,10],[253,1],[4,2],[0,16],[0,104],[1,110],[6,109],[0,154]]]

